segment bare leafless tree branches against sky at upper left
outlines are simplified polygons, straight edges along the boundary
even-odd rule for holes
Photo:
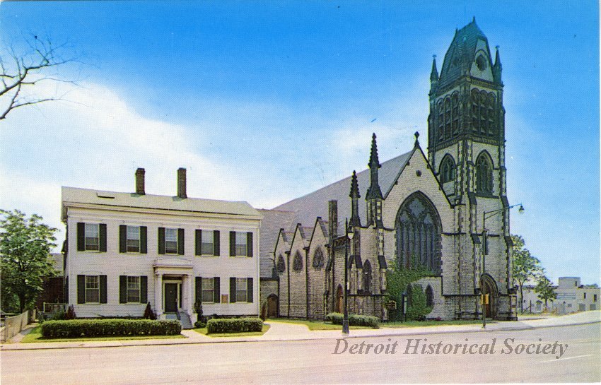
[[[29,51],[24,54],[17,54],[11,47],[5,51],[10,57],[8,61],[0,55],[0,120],[6,119],[6,116],[18,107],[61,100],[61,97],[57,96],[35,96],[31,92],[28,94],[25,88],[29,90],[42,81],[76,84],[75,81],[61,79],[52,73],[56,67],[78,61],[74,56],[62,57],[62,50],[66,48],[66,44],[55,46],[49,38],[40,40],[35,35],[26,43]],[[10,62],[13,64],[7,65]]]

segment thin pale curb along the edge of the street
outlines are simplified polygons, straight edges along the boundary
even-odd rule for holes
[[[165,345],[201,345],[208,343],[243,343],[243,342],[253,342],[253,343],[270,343],[270,342],[294,342],[294,341],[308,341],[308,340],[340,340],[347,338],[375,338],[375,337],[404,337],[404,336],[424,336],[429,334],[459,334],[459,333],[495,333],[502,331],[525,331],[532,330],[538,328],[559,328],[563,326],[580,326],[580,325],[589,325],[589,324],[600,324],[601,321],[586,321],[579,322],[576,324],[566,324],[566,325],[548,325],[548,326],[520,326],[520,327],[508,327],[508,328],[495,328],[495,329],[475,329],[475,330],[457,330],[457,331],[416,331],[414,333],[386,333],[386,334],[370,334],[366,336],[340,336],[339,338],[335,337],[326,337],[326,338],[282,338],[276,340],[256,340],[256,339],[235,339],[235,340],[215,340],[215,341],[201,341],[201,340],[192,340],[192,341],[182,341],[182,342],[159,342],[159,343],[127,343],[124,345],[123,343],[114,343],[110,345],[100,345],[100,346],[40,346],[36,347],[35,343],[15,343],[14,345],[0,345],[0,351],[15,351],[15,350],[53,350],[53,349],[90,349],[90,348],[129,348],[133,346],[165,346]],[[156,340],[153,340],[156,341]],[[81,341],[84,342],[84,341]],[[93,341],[86,341],[93,342]],[[56,343],[59,344],[59,343]],[[31,345],[31,346],[30,346]]]

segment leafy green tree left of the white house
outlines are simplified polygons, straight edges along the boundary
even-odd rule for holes
[[[3,291],[18,299],[18,308],[33,305],[42,291],[42,279],[54,273],[50,250],[57,230],[37,214],[0,210],[0,280]]]

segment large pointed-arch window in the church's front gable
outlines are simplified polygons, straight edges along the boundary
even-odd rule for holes
[[[424,266],[440,274],[440,217],[421,192],[409,196],[397,214],[397,261],[400,266]]]

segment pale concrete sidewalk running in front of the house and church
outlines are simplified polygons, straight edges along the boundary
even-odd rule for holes
[[[601,312],[582,312],[567,316],[552,316],[546,319],[527,319],[523,321],[496,321],[487,324],[486,329],[480,324],[470,325],[441,325],[441,326],[411,326],[402,328],[387,328],[383,325],[380,329],[351,329],[349,336],[344,336],[338,330],[310,331],[302,324],[289,324],[268,320],[270,328],[262,336],[249,337],[209,337],[193,330],[184,330],[182,335],[186,338],[164,338],[148,340],[107,340],[107,341],[74,341],[74,342],[48,342],[48,343],[20,343],[23,336],[31,328],[22,331],[13,338],[13,343],[0,345],[0,350],[37,350],[37,349],[69,349],[69,348],[114,348],[122,346],[141,345],[183,345],[198,343],[232,343],[232,342],[267,342],[288,340],[317,340],[317,339],[339,339],[339,338],[367,338],[383,336],[415,336],[423,334],[440,333],[466,333],[466,332],[495,332],[510,330],[527,330],[532,328],[547,328],[556,326],[568,326],[578,324],[593,324],[601,322]]]

